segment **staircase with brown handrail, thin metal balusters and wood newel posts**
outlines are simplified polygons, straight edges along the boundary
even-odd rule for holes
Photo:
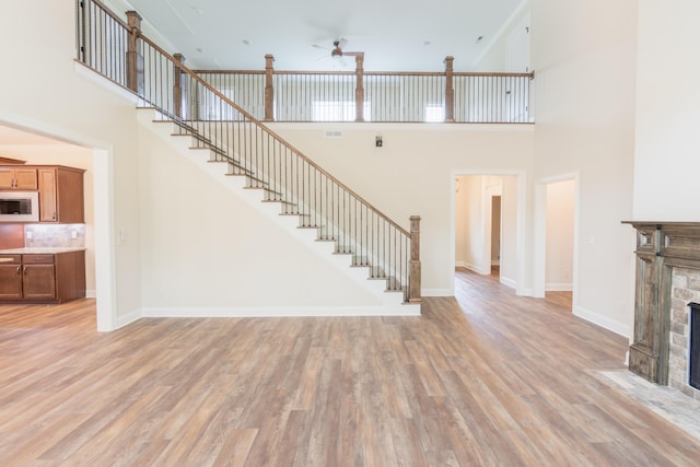
[[[101,2],[79,2],[77,59],[133,93],[149,108],[139,112],[149,129],[179,140],[173,145],[184,153],[203,153],[190,159],[212,178],[241,188],[237,196],[293,227],[300,240],[311,237],[316,249],[330,247],[331,262],[345,259],[348,276],[380,287],[380,301],[394,312],[389,302],[409,304],[401,314],[419,313],[420,218],[405,229],[382,213],[185,67],[182,56],[144,36],[137,12],[126,15],[125,22]]]

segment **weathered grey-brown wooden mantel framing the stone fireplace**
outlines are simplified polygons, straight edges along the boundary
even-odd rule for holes
[[[700,269],[700,222],[628,221],[637,229],[634,335],[629,369],[668,384],[672,275]]]

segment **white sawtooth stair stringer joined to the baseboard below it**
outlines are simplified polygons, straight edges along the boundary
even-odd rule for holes
[[[376,297],[377,306],[348,306],[330,310],[319,307],[319,310],[304,310],[301,315],[352,315],[352,316],[399,316],[419,315],[420,304],[405,303],[402,292],[387,292],[385,281],[370,279],[369,267],[352,266],[352,255],[336,254],[334,242],[318,241],[316,229],[299,227],[300,220],[296,215],[280,214],[280,203],[277,201],[262,202],[261,189],[246,189],[246,177],[243,175],[228,175],[228,164],[225,162],[211,162],[211,151],[208,149],[192,149],[191,139],[188,136],[173,136],[172,122],[153,120],[153,109],[139,109],[138,120],[149,132],[158,136],[159,140],[174,149],[174,153],[184,157],[192,166],[205,172],[209,178],[225,187],[233,196],[245,201],[246,205],[260,212],[272,223],[277,224],[282,232],[293,237],[296,243],[307,249],[307,252],[322,258],[336,270],[345,275],[348,280],[360,285],[370,294]],[[175,155],[174,154],[174,155]],[[326,311],[324,311],[326,310]],[[345,310],[345,311],[343,311]],[[347,313],[346,313],[347,312]],[[147,316],[164,316],[167,312],[151,310],[145,311]],[[287,315],[287,312],[279,310],[264,311],[262,315]],[[234,314],[242,316],[241,314]],[[290,316],[296,315],[294,312]],[[201,315],[198,315],[201,316]],[[217,314],[220,316],[220,314]],[[261,316],[256,310],[254,316]]]

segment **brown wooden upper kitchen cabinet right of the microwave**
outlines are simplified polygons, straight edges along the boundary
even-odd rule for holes
[[[82,168],[38,167],[39,222],[85,222]]]

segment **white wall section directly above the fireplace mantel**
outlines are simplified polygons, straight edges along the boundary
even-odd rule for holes
[[[697,0],[639,1],[634,220],[700,219],[699,21]]]

